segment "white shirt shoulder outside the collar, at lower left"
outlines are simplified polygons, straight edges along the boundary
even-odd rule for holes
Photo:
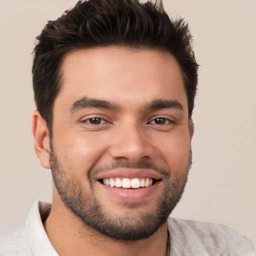
[[[26,236],[25,223],[0,236],[0,255],[32,255]]]

